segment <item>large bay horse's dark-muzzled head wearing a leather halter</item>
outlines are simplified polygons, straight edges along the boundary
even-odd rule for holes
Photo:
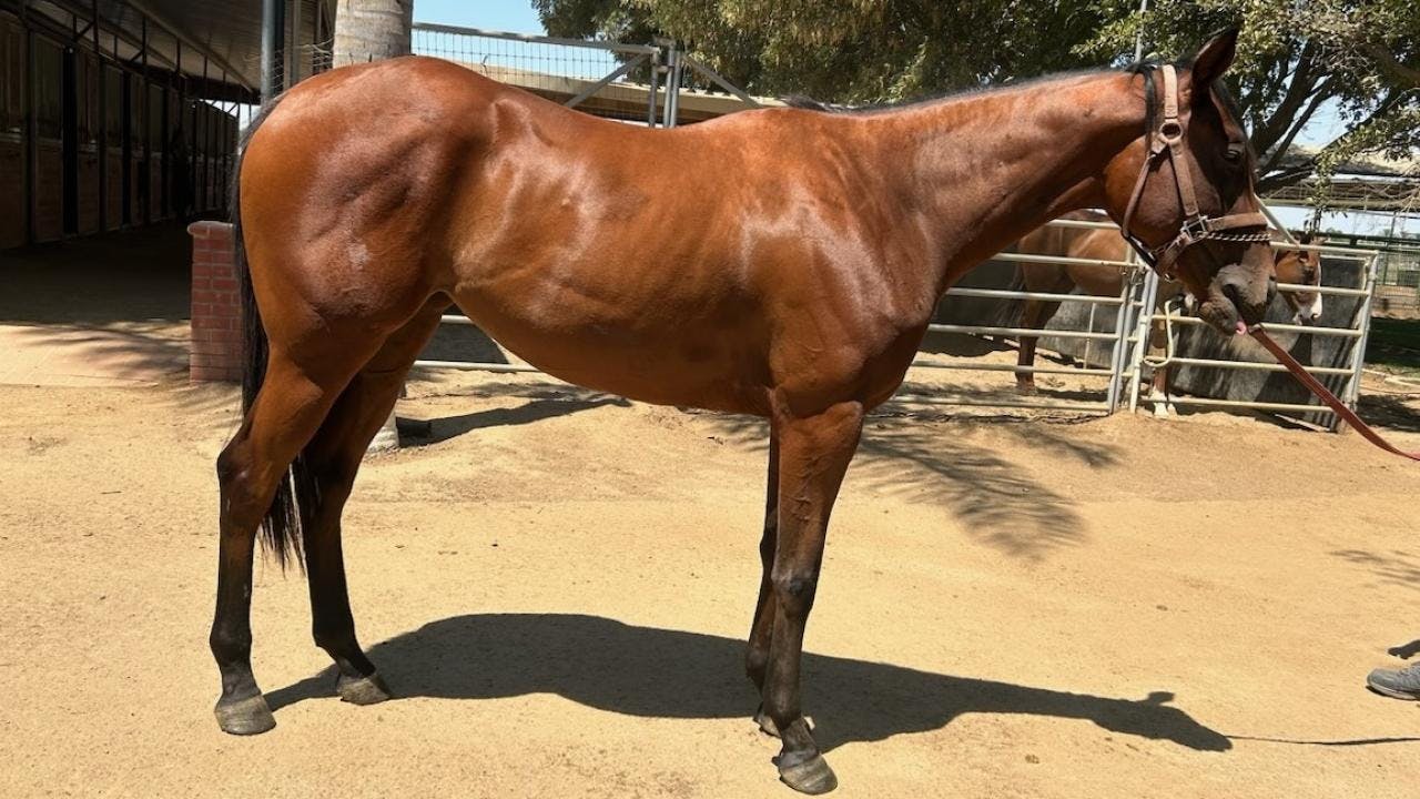
[[[1235,44],[1227,31],[1190,63],[1140,67],[1143,135],[1105,172],[1125,236],[1224,333],[1261,321],[1277,290],[1252,152],[1220,81]]]

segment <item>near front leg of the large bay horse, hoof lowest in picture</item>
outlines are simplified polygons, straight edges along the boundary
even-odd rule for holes
[[[858,448],[863,407],[842,402],[809,418],[778,411],[778,542],[770,581],[774,628],[764,681],[764,709],[784,741],[780,779],[795,790],[824,793],[838,785],[799,708],[804,626],[814,607],[828,518]]]

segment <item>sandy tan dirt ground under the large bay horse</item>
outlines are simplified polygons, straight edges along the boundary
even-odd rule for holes
[[[1008,380],[1008,375],[1003,375]],[[0,387],[0,796],[788,796],[750,721],[755,421],[531,378],[412,385],[345,552],[398,699],[334,698],[258,566],[278,726],[217,731],[213,458],[234,392]],[[1420,431],[1399,441],[1420,448]],[[805,707],[851,796],[1403,796],[1420,469],[1237,417],[875,417]]]

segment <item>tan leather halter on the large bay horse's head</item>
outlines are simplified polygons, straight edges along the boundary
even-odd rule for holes
[[[1163,74],[1163,121],[1157,129],[1145,129],[1145,141],[1149,155],[1143,166],[1139,168],[1139,179],[1135,182],[1135,193],[1129,198],[1125,209],[1123,223],[1119,226],[1120,235],[1129,242],[1139,257],[1154,267],[1167,280],[1174,279],[1174,266],[1183,250],[1198,242],[1271,242],[1267,218],[1261,213],[1234,213],[1217,219],[1198,213],[1198,198],[1193,192],[1193,173],[1189,171],[1189,161],[1183,152],[1183,125],[1179,122],[1179,74],[1172,64],[1159,68]],[[1145,101],[1153,105],[1153,73],[1145,74]],[[1145,183],[1164,156],[1173,162],[1174,182],[1179,188],[1179,202],[1183,206],[1183,225],[1173,240],[1159,247],[1150,247],[1139,240],[1129,226],[1135,219],[1139,198],[1145,193]],[[1245,230],[1245,229],[1255,230]]]

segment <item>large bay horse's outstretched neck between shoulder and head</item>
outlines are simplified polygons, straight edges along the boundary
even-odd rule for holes
[[[882,139],[905,148],[893,159],[924,198],[939,293],[1047,220],[1103,205],[1106,165],[1143,129],[1139,85],[1071,75],[883,115],[897,135]]]

